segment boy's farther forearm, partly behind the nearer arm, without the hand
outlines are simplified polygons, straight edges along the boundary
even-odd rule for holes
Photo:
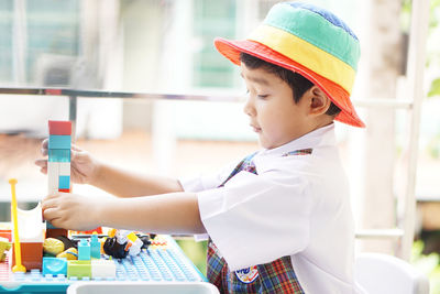
[[[103,163],[99,164],[95,178],[89,183],[118,197],[139,197],[184,192],[176,178],[141,176]]]

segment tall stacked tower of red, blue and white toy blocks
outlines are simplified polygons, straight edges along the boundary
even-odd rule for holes
[[[48,121],[48,194],[70,192],[72,122]],[[46,237],[67,236],[67,231],[47,224]]]

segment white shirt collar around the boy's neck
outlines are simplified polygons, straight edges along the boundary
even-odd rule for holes
[[[280,156],[287,152],[302,150],[302,149],[316,149],[322,145],[336,145],[334,135],[334,123],[316,129],[309,133],[306,133],[284,145],[274,149],[263,149],[256,156],[260,155],[274,155]]]

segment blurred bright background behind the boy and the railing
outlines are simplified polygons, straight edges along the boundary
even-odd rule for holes
[[[97,157],[139,173],[186,177],[216,172],[258,149],[242,112],[239,68],[213,47],[213,37],[243,39],[274,0],[2,0],[1,88],[72,88],[146,92],[145,98],[77,99],[76,144]],[[361,41],[352,96],[367,128],[337,123],[350,176],[356,229],[415,224],[411,262],[440,293],[440,0],[431,0],[424,59],[419,135],[411,148],[414,97],[408,91],[411,1],[316,0],[343,19]],[[414,24],[414,23],[413,23]],[[186,99],[166,99],[163,94]],[[191,99],[200,95],[205,99]],[[219,101],[216,97],[230,97]],[[389,101],[375,104],[374,101]],[[47,192],[33,164],[47,120],[69,119],[69,97],[0,95],[0,221],[10,220],[9,177],[21,207]],[[414,139],[414,138],[413,138]],[[408,159],[414,168],[415,215],[402,209]],[[75,185],[75,193],[106,193]],[[409,232],[411,233],[413,230]],[[205,272],[205,242],[180,238]],[[400,238],[359,238],[358,251],[399,255]]]

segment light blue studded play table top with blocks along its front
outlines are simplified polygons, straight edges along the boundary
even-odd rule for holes
[[[53,261],[44,263],[43,270],[46,269],[44,274],[40,270],[12,273],[7,260],[0,263],[0,293],[66,293],[66,288],[78,280],[94,281],[94,283],[98,281],[136,283],[206,281],[173,238],[157,236],[153,243],[155,246],[143,249],[140,254],[125,259],[107,260],[102,257],[99,260],[67,261],[66,274],[63,273],[63,261],[53,258]],[[69,250],[75,250],[75,248]],[[70,266],[68,266],[69,262]]]

